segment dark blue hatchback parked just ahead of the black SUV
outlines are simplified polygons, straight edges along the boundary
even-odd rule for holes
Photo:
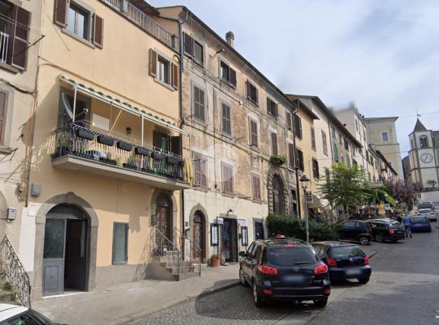
[[[357,279],[361,285],[369,282],[372,273],[369,258],[357,245],[337,241],[316,241],[312,245],[328,265],[331,281]]]

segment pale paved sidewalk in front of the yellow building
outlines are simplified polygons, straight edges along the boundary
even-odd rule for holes
[[[121,324],[239,283],[239,265],[202,269],[202,276],[169,282],[143,280],[33,302],[60,324]]]

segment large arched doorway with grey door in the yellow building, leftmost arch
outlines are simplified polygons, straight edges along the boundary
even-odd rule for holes
[[[43,295],[86,289],[88,224],[75,204],[58,204],[46,214],[43,250]]]

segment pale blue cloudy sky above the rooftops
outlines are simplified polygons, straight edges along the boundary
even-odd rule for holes
[[[195,1],[186,5],[285,93],[354,102],[366,117],[399,116],[402,155],[416,110],[439,130],[439,1]]]

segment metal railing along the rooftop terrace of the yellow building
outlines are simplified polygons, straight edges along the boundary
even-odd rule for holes
[[[139,10],[135,5],[127,0],[103,0],[108,3],[112,8],[121,12],[131,21],[134,21],[141,29],[145,30],[148,34],[151,34],[161,42],[165,43],[172,49],[179,51],[178,48],[178,36],[169,32],[165,27],[154,21],[145,12]]]

